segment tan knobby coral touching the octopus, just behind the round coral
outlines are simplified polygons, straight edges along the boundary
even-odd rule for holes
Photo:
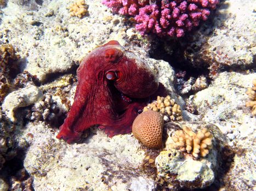
[[[150,104],[147,104],[147,106],[144,107],[143,112],[149,110],[160,112],[164,116],[164,121],[182,120],[180,106],[177,103],[175,103],[175,100],[171,99],[170,96],[157,96],[157,100],[153,101]]]

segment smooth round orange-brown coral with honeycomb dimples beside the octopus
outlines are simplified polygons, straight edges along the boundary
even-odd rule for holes
[[[143,145],[150,148],[162,147],[163,117],[156,111],[146,111],[138,115],[132,128],[133,135]]]

